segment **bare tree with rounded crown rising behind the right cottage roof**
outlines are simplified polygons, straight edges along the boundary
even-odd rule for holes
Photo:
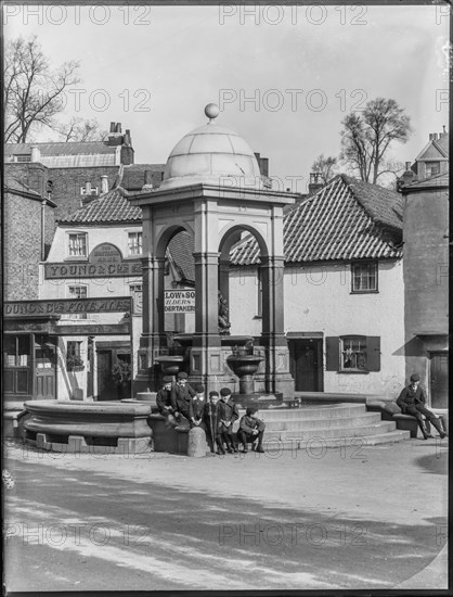
[[[340,158],[365,182],[376,183],[386,173],[396,173],[387,162],[393,141],[405,143],[412,132],[410,117],[394,100],[377,98],[362,114],[342,120]]]

